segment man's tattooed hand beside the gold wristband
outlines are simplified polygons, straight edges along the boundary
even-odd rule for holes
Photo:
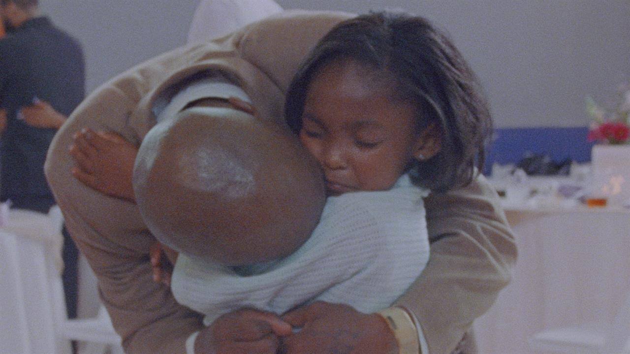
[[[282,319],[297,328],[284,341],[287,354],[395,354],[398,342],[385,320],[348,305],[314,302]]]

